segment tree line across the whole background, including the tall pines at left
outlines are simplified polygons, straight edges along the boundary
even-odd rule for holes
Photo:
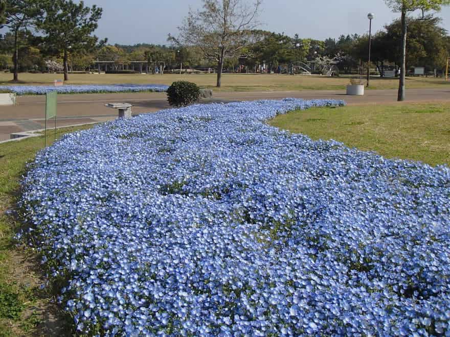
[[[2,11],[4,15],[2,16]],[[252,12],[249,12],[251,15]],[[223,14],[223,13],[222,13]],[[0,17],[8,32],[0,38],[0,68],[10,69],[13,80],[21,71],[95,70],[95,61],[109,61],[116,70],[129,68],[131,61],[149,63],[151,71],[186,69],[233,72],[287,71],[296,62],[328,59],[342,74],[363,74],[367,69],[368,35],[341,35],[316,40],[263,30],[243,30],[246,43],[228,46],[227,57],[205,45],[188,44],[169,36],[168,45],[140,43],[110,45],[93,32],[102,9],[72,0],[0,0]],[[450,37],[435,17],[408,20],[406,69],[424,66],[426,71],[443,70],[450,51]],[[198,28],[199,29],[199,28]],[[208,43],[206,41],[205,43]],[[235,47],[233,49],[233,47]],[[207,53],[218,53],[208,57]],[[385,69],[399,71],[402,58],[401,20],[394,20],[372,36],[372,66],[383,76]],[[50,62],[51,61],[51,62]],[[60,66],[57,66],[60,64]],[[322,71],[316,69],[317,73]]]

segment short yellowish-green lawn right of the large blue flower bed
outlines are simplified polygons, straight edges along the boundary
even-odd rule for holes
[[[450,165],[450,103],[313,108],[279,115],[270,124],[387,158]]]

